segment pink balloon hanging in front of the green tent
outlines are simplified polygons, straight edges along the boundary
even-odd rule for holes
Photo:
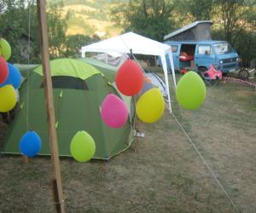
[[[102,102],[102,120],[111,128],[122,127],[128,118],[128,109],[118,96],[107,95]]]

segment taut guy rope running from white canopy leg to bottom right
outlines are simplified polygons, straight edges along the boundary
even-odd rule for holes
[[[173,118],[176,120],[177,124],[180,126],[180,128],[183,130],[184,135],[186,135],[186,137],[188,138],[190,144],[192,145],[192,147],[194,147],[196,153],[198,153],[199,157],[201,158],[202,162],[206,165],[207,169],[210,171],[213,179],[217,182],[218,186],[221,188],[221,190],[224,192],[226,198],[228,200],[230,200],[230,203],[232,204],[233,208],[237,211],[237,212],[241,212],[237,207],[236,204],[233,202],[233,200],[230,198],[229,194],[225,191],[223,185],[220,183],[220,181],[218,181],[218,177],[214,174],[212,168],[210,167],[209,164],[207,164],[206,159],[201,155],[200,151],[198,150],[198,148],[195,146],[195,143],[191,140],[191,138],[189,137],[188,133],[186,132],[186,130],[183,129],[182,124],[180,124],[176,118],[176,116],[172,113]]]

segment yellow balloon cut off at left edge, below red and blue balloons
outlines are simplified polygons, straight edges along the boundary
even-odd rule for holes
[[[8,84],[0,88],[0,112],[9,112],[17,101],[15,88]]]

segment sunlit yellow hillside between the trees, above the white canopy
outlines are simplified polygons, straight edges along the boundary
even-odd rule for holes
[[[83,34],[113,37],[122,32],[110,20],[110,9],[125,1],[64,0],[63,14],[70,12],[67,35]]]

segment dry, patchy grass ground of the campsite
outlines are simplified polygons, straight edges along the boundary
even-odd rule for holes
[[[173,93],[172,107],[237,208],[254,212],[255,90],[219,83],[199,110],[181,109]],[[67,212],[236,212],[167,110],[137,128],[145,137],[109,162],[61,159]],[[53,212],[49,158],[1,156],[0,168],[1,213]]]

